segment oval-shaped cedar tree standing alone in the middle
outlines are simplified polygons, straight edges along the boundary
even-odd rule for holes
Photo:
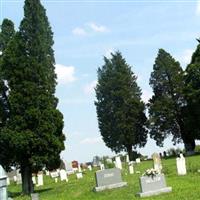
[[[144,146],[147,140],[141,90],[120,52],[104,61],[96,86],[99,129],[107,147],[116,153],[125,150],[133,160],[133,148]]]

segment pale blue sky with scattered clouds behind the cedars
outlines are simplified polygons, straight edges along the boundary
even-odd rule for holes
[[[195,0],[46,0],[41,1],[54,32],[58,107],[64,115],[66,161],[91,161],[115,155],[104,144],[94,106],[97,69],[103,56],[119,50],[136,74],[145,102],[151,97],[149,77],[159,48],[183,68],[200,37],[200,1]],[[0,0],[0,23],[11,19],[16,30],[24,0]],[[182,147],[182,144],[176,147]],[[144,155],[173,147],[170,139],[157,147],[148,138]]]

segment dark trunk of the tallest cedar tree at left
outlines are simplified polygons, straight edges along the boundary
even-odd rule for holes
[[[30,195],[33,193],[32,171],[29,165],[21,165],[22,192]]]

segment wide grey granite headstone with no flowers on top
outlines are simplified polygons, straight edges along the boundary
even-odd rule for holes
[[[96,192],[127,185],[126,182],[122,181],[121,171],[117,168],[97,171],[95,175],[96,187],[94,188],[94,190]]]

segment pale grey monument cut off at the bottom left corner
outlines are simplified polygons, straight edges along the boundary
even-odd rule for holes
[[[7,175],[0,165],[0,200],[7,200]]]

